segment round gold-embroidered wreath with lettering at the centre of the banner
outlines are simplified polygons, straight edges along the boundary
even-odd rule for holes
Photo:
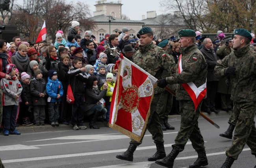
[[[124,87],[120,97],[120,106],[126,112],[135,113],[139,106],[139,89],[137,86]]]

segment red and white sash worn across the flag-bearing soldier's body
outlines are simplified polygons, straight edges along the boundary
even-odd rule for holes
[[[179,74],[182,73],[181,56],[182,56],[182,54],[180,54],[180,58],[178,61],[178,73]],[[195,105],[195,111],[196,111],[198,104],[202,101],[202,99],[204,98],[204,96],[206,94],[206,81],[200,87],[197,87],[193,82],[182,83],[181,85],[182,85],[182,87],[184,87],[184,89],[187,91],[190,98],[192,99],[192,101]]]

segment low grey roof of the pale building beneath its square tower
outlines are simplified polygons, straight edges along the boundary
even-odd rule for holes
[[[141,20],[126,20],[126,19],[121,19],[121,18],[116,18],[112,17],[113,20],[111,20],[111,23],[131,23],[131,24],[144,24]],[[100,23],[109,23],[108,17],[106,15],[98,15],[89,18],[91,20],[94,20],[95,22],[100,22]]]

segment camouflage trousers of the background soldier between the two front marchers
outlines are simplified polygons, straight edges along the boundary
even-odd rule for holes
[[[173,95],[167,90],[164,90],[156,108],[156,112],[158,113],[159,118],[168,118],[172,106]]]

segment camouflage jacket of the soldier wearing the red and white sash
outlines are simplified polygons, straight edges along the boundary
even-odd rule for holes
[[[204,55],[197,49],[196,44],[191,44],[187,47],[180,48],[182,54],[182,73],[167,77],[166,81],[169,84],[182,84],[193,82],[197,87],[200,87],[206,82],[207,78],[207,63]],[[182,85],[177,86],[176,100],[191,100],[187,91]]]

